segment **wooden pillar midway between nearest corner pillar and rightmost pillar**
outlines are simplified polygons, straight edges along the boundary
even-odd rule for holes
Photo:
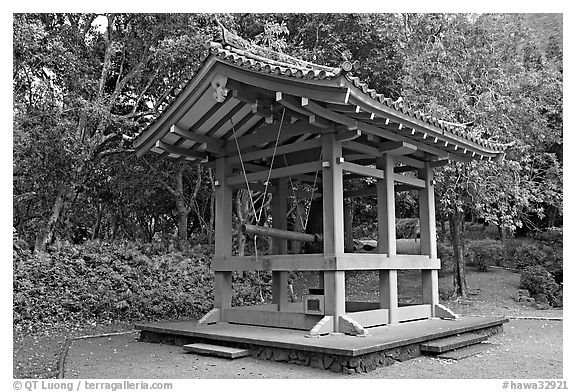
[[[396,256],[396,209],[394,205],[394,159],[385,154],[376,160],[384,178],[376,183],[378,199],[378,252]],[[385,262],[385,260],[383,261]],[[398,271],[380,270],[380,307],[388,309],[388,322],[398,322]]]

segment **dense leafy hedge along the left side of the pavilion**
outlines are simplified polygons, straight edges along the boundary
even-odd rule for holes
[[[208,312],[211,247],[157,251],[153,244],[89,242],[64,244],[55,253],[15,252],[14,324],[199,318]],[[260,302],[254,281],[236,279],[235,304]]]

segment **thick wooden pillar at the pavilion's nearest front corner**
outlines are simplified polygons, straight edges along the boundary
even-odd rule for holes
[[[324,221],[324,254],[344,254],[344,185],[342,143],[334,133],[322,135],[322,193]],[[344,271],[324,272],[324,310],[334,316],[334,331],[339,332],[339,316],[346,313]]]

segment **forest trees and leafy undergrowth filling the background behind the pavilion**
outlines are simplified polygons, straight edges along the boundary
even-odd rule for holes
[[[508,266],[525,271],[533,294],[561,305],[561,14],[15,14],[15,325],[210,309],[213,175],[137,158],[132,141],[199,69],[216,17],[311,62],[359,60],[359,76],[377,91],[513,142],[500,162],[436,170],[449,295],[466,296],[466,263]],[[234,194],[235,227],[254,220],[249,199]],[[374,205],[349,202],[354,238],[374,237]],[[291,200],[293,229],[309,207]],[[417,231],[417,208],[410,192],[397,198],[400,237]],[[251,241],[236,235],[235,252],[250,253]],[[266,251],[265,242],[256,246]],[[235,303],[268,298],[251,289],[267,279],[236,276]]]

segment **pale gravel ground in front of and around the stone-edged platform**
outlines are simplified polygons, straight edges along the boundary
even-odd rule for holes
[[[181,347],[138,342],[136,335],[76,341],[66,378],[538,378],[561,379],[562,322],[511,320],[486,352],[459,361],[419,357],[348,376],[251,357],[226,360],[185,354]]]

